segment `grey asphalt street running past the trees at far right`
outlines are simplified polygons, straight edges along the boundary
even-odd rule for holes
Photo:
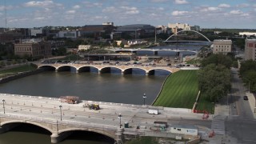
[[[238,143],[256,143],[256,120],[253,118],[249,102],[243,99],[247,90],[242,79],[238,77],[238,70],[231,69],[231,72],[233,78],[229,98],[230,116],[226,122],[226,134],[237,138]]]

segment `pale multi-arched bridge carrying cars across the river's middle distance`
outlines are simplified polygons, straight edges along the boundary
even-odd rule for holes
[[[45,64],[45,63],[34,63],[38,66],[38,68],[47,68],[50,70],[58,71],[74,71],[76,73],[86,72],[90,71],[91,68],[94,68],[98,70],[98,74],[102,73],[110,73],[111,68],[115,68],[121,71],[122,74],[132,74],[133,69],[138,70],[144,70],[145,74],[152,75],[154,74],[154,70],[166,70],[170,73],[175,73],[178,70],[181,70],[181,68],[171,67],[171,66],[142,66],[142,65],[110,65],[110,64],[100,64],[100,63],[85,63],[85,64],[62,64],[62,63],[56,63],[56,64]],[[195,68],[198,69],[198,68]]]

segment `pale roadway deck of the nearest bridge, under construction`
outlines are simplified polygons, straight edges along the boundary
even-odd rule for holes
[[[45,119],[56,122],[86,122],[91,125],[98,126],[119,126],[118,114],[122,114],[122,125],[129,122],[130,126],[154,126],[155,121],[168,122],[169,125],[183,124],[195,125],[203,127],[203,130],[210,128],[211,119],[202,120],[202,114],[194,114],[178,110],[166,110],[159,107],[161,114],[147,114],[149,106],[138,106],[129,104],[115,104],[99,102],[101,110],[89,110],[84,107],[85,103],[90,101],[82,101],[78,104],[67,104],[58,101],[58,98],[30,97],[21,95],[1,94],[1,98],[5,99],[5,114]],[[59,106],[62,105],[62,110]],[[62,115],[61,115],[62,111]],[[0,111],[3,114],[1,108]],[[202,131],[202,129],[200,128]]]

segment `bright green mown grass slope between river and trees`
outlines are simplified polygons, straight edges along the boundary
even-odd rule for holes
[[[154,106],[192,109],[198,95],[198,70],[180,70],[171,74]]]

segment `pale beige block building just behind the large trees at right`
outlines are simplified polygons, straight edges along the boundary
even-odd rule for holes
[[[224,39],[215,39],[214,40],[214,54],[227,54],[232,50],[232,41]]]

